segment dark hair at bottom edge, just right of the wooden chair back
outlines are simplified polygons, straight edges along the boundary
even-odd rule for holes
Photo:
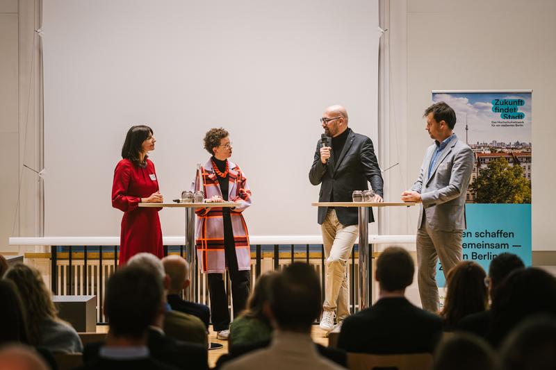
[[[496,353],[484,339],[469,333],[454,333],[434,351],[432,370],[497,369]]]

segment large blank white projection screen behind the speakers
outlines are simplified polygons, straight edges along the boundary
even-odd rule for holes
[[[377,1],[44,1],[46,235],[118,235],[115,164],[152,126],[166,201],[224,126],[250,181],[252,235],[320,234],[309,183],[318,119],[341,103],[377,141]],[[183,211],[161,212],[164,235]]]

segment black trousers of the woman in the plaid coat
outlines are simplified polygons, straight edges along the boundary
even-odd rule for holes
[[[224,212],[224,255],[231,280],[231,296],[234,299],[234,314],[239,314],[247,305],[250,294],[250,271],[238,270],[234,231],[229,212]],[[226,330],[230,326],[230,312],[224,282],[224,274],[208,274],[208,292],[211,295],[211,319],[213,330]]]

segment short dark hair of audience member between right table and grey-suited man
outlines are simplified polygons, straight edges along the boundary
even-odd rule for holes
[[[377,259],[377,280],[387,292],[405,289],[413,282],[413,258],[400,246],[389,246]]]

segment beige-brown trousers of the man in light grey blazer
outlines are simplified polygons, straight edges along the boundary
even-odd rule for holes
[[[440,259],[444,277],[461,261],[463,230],[432,230],[423,215],[423,224],[417,230],[417,283],[423,309],[439,310],[439,289],[436,285],[436,263]]]

